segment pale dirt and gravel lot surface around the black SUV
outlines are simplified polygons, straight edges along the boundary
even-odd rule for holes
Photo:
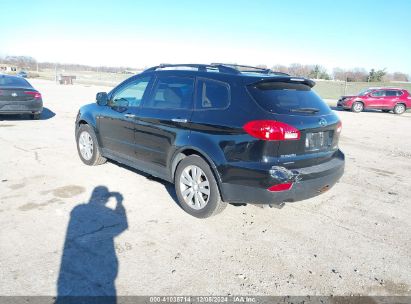
[[[32,83],[43,119],[0,118],[0,294],[70,293],[86,280],[117,295],[411,295],[411,113],[338,112],[347,164],[332,190],[200,220],[167,183],[81,163],[75,115],[108,88]],[[94,212],[98,186],[121,193],[122,216]]]

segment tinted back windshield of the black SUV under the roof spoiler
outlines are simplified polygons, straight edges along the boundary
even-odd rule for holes
[[[259,83],[248,86],[248,91],[262,108],[272,113],[327,114],[331,111],[309,86],[301,83]]]

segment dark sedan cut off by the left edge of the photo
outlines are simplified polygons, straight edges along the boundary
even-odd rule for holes
[[[26,79],[0,74],[0,115],[30,114],[39,119],[42,111],[41,94]]]

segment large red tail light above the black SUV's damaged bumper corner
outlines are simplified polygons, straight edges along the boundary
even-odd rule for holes
[[[298,140],[301,137],[297,128],[274,120],[253,120],[246,123],[243,129],[262,140]]]

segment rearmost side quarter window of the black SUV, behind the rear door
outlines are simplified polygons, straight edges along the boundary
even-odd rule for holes
[[[197,80],[196,110],[225,109],[230,104],[227,83],[199,78]]]

